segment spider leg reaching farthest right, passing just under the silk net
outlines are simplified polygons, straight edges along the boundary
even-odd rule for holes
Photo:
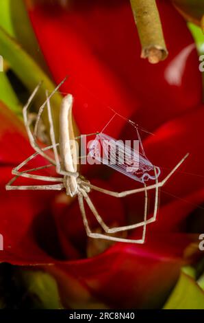
[[[175,166],[175,168],[173,168],[173,170],[171,170],[171,172],[162,181],[157,182],[157,183],[155,183],[153,185],[146,186],[146,188],[136,188],[136,190],[125,190],[123,192],[114,192],[112,190],[105,190],[104,188],[99,188],[99,187],[94,186],[92,184],[88,184],[88,185],[93,190],[97,190],[97,191],[102,192],[104,194],[111,195],[112,197],[127,197],[128,195],[131,195],[131,194],[136,194],[136,193],[139,193],[139,192],[144,192],[144,190],[153,190],[154,188],[160,188],[160,187],[164,186],[164,184],[166,183],[166,181],[168,181],[168,179],[175,173],[175,171],[177,170],[177,168],[179,168],[181,166],[181,164],[183,164],[183,161],[186,160],[186,158],[188,157],[188,155],[189,154],[186,154],[179,161],[179,163]],[[155,171],[155,174],[156,174],[155,167],[154,167],[154,171]],[[155,178],[157,178],[157,176]]]

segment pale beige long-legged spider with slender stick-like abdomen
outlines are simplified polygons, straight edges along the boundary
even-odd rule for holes
[[[123,243],[144,243],[145,237],[146,237],[146,225],[149,223],[153,223],[156,220],[157,217],[157,209],[158,209],[158,192],[159,188],[164,186],[166,181],[170,179],[170,177],[175,173],[177,168],[181,166],[183,161],[188,157],[189,154],[186,154],[186,156],[183,157],[179,161],[179,163],[171,170],[168,175],[162,179],[162,181],[158,181],[158,177],[160,175],[160,169],[157,166],[153,166],[151,162],[146,158],[145,154],[142,156],[142,163],[148,166],[146,168],[147,171],[142,172],[142,177],[139,177],[137,175],[137,170],[133,170],[134,175],[133,179],[136,181],[140,181],[143,184],[142,188],[136,188],[133,190],[125,190],[123,192],[114,192],[111,190],[105,190],[104,188],[99,188],[97,186],[92,185],[90,181],[79,175],[79,172],[77,172],[77,150],[75,144],[75,135],[73,131],[73,122],[72,122],[72,107],[73,107],[73,96],[71,94],[66,95],[62,99],[62,104],[60,107],[60,139],[59,143],[55,140],[55,131],[53,126],[53,118],[51,114],[51,97],[53,94],[58,91],[60,86],[65,80],[63,80],[58,87],[55,88],[55,90],[48,95],[48,92],[46,92],[47,99],[42,104],[38,111],[38,115],[36,118],[36,124],[34,126],[34,131],[32,133],[29,125],[29,120],[27,118],[27,110],[29,108],[29,105],[31,104],[31,101],[34,99],[34,96],[36,96],[36,93],[38,92],[38,89],[40,89],[40,84],[34,89],[34,92],[29,97],[29,100],[27,101],[27,104],[25,104],[25,107],[23,108],[23,119],[25,123],[25,128],[27,131],[27,135],[29,137],[29,142],[34,148],[34,151],[36,151],[33,155],[25,159],[20,165],[18,165],[16,168],[12,170],[12,174],[15,175],[9,183],[5,186],[6,190],[66,190],[66,194],[70,197],[78,197],[79,201],[79,208],[81,212],[82,219],[84,221],[84,227],[86,230],[86,234],[91,238],[99,238],[99,239],[105,239],[110,241],[118,241]],[[47,112],[48,112],[48,118],[49,118],[49,134],[51,138],[51,145],[47,146],[45,148],[40,148],[40,146],[37,143],[37,133],[38,133],[38,124],[40,122],[40,118],[42,115],[42,112],[44,111],[44,107],[47,105]],[[96,137],[96,140],[94,140],[94,145],[91,147],[91,153],[94,155],[96,153],[96,150],[94,150],[99,144],[99,140],[104,137],[103,133],[99,133]],[[107,136],[106,136],[107,137]],[[71,144],[72,143],[72,144]],[[49,151],[50,149],[53,149],[54,153],[54,159],[47,155],[45,152]],[[59,151],[58,151],[59,149]],[[144,152],[144,149],[142,147],[142,151]],[[34,159],[36,156],[41,155],[45,159],[47,159],[51,164],[46,166],[40,166],[38,168],[33,168],[25,171],[20,171],[23,166],[25,166],[31,159]],[[137,156],[138,157],[138,156]],[[36,171],[36,170],[42,170],[43,168],[48,168],[50,166],[55,166],[55,170],[59,175],[62,175],[62,177],[49,177],[49,176],[42,176],[42,175],[33,175],[30,174],[30,172]],[[116,170],[120,172],[124,172],[121,169],[116,168]],[[149,175],[148,171],[152,170],[154,175]],[[125,174],[127,175],[127,174]],[[51,181],[55,182],[51,185],[37,185],[37,186],[13,186],[12,183],[18,178],[18,177],[27,177],[30,179],[37,179],[40,181]],[[155,183],[146,186],[145,181],[148,181],[149,179],[155,179]],[[90,190],[96,190],[98,192],[101,192],[103,194],[108,194],[112,197],[117,198],[123,198],[127,197],[131,194],[136,194],[138,192],[144,192],[144,220],[131,224],[131,225],[125,225],[120,227],[108,227],[107,224],[103,221],[102,217],[100,216],[99,212],[97,212],[97,209],[95,208],[94,204],[92,203],[89,192]],[[155,190],[155,203],[154,203],[154,209],[153,209],[153,216],[151,216],[150,219],[147,219],[147,207],[148,207],[148,192],[149,190]],[[94,214],[95,218],[97,219],[99,225],[101,225],[104,234],[101,233],[95,233],[92,232],[90,229],[90,225],[88,223],[88,219],[86,216],[86,210],[84,201],[86,201],[88,207],[90,208],[92,214]],[[119,238],[116,236],[109,236],[108,234],[115,234],[116,232],[123,232],[126,230],[132,230],[138,227],[142,228],[142,237],[138,239],[129,239],[129,238]]]

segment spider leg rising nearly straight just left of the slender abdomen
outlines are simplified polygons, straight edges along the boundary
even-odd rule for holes
[[[55,131],[54,131],[54,125],[53,125],[53,117],[52,117],[52,114],[51,114],[50,98],[49,98],[47,92],[46,92],[46,95],[47,95],[47,111],[48,111],[48,118],[49,118],[49,125],[50,125],[50,137],[51,137],[51,143],[52,143],[52,146],[53,146],[53,152],[54,152],[54,155],[55,155],[56,171],[60,175],[64,175],[64,176],[71,175],[71,176],[74,176],[74,177],[78,177],[79,176],[78,172],[68,172],[68,171],[62,170],[59,155],[58,155],[57,144],[56,144],[56,140],[55,140]]]

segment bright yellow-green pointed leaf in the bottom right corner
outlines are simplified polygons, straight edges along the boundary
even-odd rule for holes
[[[204,292],[192,277],[181,271],[164,309],[204,309]]]

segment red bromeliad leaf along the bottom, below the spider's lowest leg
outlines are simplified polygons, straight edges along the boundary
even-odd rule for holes
[[[111,308],[160,308],[181,266],[189,262],[194,250],[189,244],[197,240],[194,238],[186,234],[154,234],[145,245],[117,243],[99,256],[45,269],[58,280],[65,307],[70,302],[69,277],[73,276]]]

